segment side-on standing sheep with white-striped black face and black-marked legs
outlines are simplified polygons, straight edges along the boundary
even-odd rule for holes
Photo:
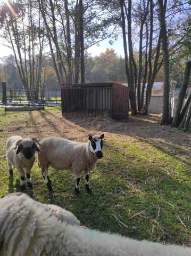
[[[40,151],[38,152],[39,166],[45,179],[47,188],[52,190],[52,182],[48,176],[48,167],[60,170],[71,170],[76,175],[76,185],[74,191],[80,194],[79,181],[82,171],[85,172],[85,188],[91,193],[89,188],[89,172],[95,168],[98,158],[103,157],[102,147],[104,134],[89,136],[88,142],[76,142],[63,138],[47,137],[40,141]]]

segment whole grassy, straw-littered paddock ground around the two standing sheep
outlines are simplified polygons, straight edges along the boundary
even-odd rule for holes
[[[96,118],[65,119],[60,107],[45,111],[7,112],[0,108],[0,196],[19,191],[20,178],[8,173],[5,145],[11,135],[42,139],[49,135],[87,141],[89,133],[105,134],[104,157],[90,174],[90,188],[69,171],[50,168],[53,193],[47,191],[40,169],[32,169],[34,190],[26,190],[43,203],[71,211],[87,227],[191,246],[190,133],[161,126],[161,116],[129,117],[127,123]]]

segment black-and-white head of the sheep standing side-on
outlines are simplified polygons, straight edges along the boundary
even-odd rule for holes
[[[104,134],[100,137],[98,136],[89,136],[90,142],[90,151],[94,153],[97,158],[101,159],[103,157],[102,148],[103,148],[103,139]]]

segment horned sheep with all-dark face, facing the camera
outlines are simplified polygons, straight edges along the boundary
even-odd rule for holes
[[[24,169],[27,173],[27,184],[32,188],[30,172],[35,162],[35,153],[39,151],[37,139],[23,139],[20,136],[12,136],[6,142],[6,157],[10,175],[13,175],[12,165],[16,167],[21,177],[20,189],[24,190]]]

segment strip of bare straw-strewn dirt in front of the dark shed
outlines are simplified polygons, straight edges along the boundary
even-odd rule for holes
[[[191,134],[182,132],[177,128],[161,126],[161,115],[150,114],[129,116],[128,122],[112,120],[108,113],[103,113],[93,118],[65,118],[61,111],[45,110],[36,114],[29,112],[29,119],[22,122],[22,133],[35,134],[36,138],[43,139],[48,136],[63,137],[71,140],[86,141],[89,134],[105,134],[105,137],[118,138],[122,141],[124,136],[130,137],[132,143],[142,141],[155,147],[168,148],[172,153],[173,148],[184,151],[184,157],[190,157]],[[19,127],[9,126],[4,132],[9,135],[18,133]],[[7,134],[7,135],[8,135]],[[117,135],[117,137],[116,137]],[[182,153],[182,152],[181,152]],[[182,154],[181,154],[182,155]]]

